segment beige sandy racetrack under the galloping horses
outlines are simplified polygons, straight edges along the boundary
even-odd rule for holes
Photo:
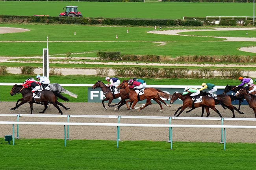
[[[0,102],[0,114],[29,114],[30,106],[28,103],[20,106],[17,110],[10,110],[16,102]],[[70,107],[70,110],[61,108],[65,115],[137,115],[137,116],[173,116],[180,104],[173,104],[172,107],[163,106],[164,111],[160,112],[158,104],[152,104],[141,112],[136,110],[126,110],[121,107],[119,111],[113,111],[114,108],[105,110],[101,103],[63,103]],[[33,105],[33,114],[39,114],[43,106]],[[223,117],[232,117],[230,110],[224,110],[221,106],[216,106]],[[186,109],[187,110],[187,109]],[[186,111],[185,110],[185,111]],[[242,105],[241,111],[244,115],[235,112],[236,117],[255,118],[252,109],[249,106]],[[218,117],[217,113],[210,110],[210,117]],[[45,114],[59,114],[58,110],[50,105]],[[43,114],[42,114],[43,115]],[[201,109],[197,108],[191,113],[182,113],[183,117],[200,117]],[[205,115],[204,115],[205,116]],[[17,121],[17,117],[0,117],[0,121]],[[67,118],[58,117],[19,117],[19,121],[38,121],[38,122],[67,122]],[[72,118],[70,122],[109,122],[117,123],[115,118]],[[138,124],[169,124],[168,119],[121,119],[121,123],[138,123]],[[210,120],[171,120],[172,124],[215,124],[221,125],[221,121]],[[224,121],[224,125],[255,125],[255,121]],[[0,125],[0,137],[12,134],[12,125]],[[15,135],[17,128],[15,128]],[[256,143],[254,134],[256,129],[227,129],[226,142],[243,142]],[[20,139],[26,138],[56,138],[64,139],[63,126],[46,126],[46,125],[20,125]],[[70,139],[104,139],[116,140],[117,128],[110,126],[70,126]],[[151,141],[168,141],[169,128],[149,128],[149,127],[121,127],[120,139],[128,140],[151,140]],[[220,142],[221,129],[213,128],[173,128],[173,141],[200,141],[200,142]]]

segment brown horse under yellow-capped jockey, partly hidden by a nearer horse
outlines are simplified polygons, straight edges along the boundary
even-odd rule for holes
[[[202,92],[202,91],[201,91]],[[201,95],[201,93],[200,93]],[[206,92],[202,92],[202,95],[208,95]],[[233,106],[231,104],[232,101],[234,100],[243,100],[241,98],[238,98],[236,96],[233,96],[233,95],[217,95],[217,100],[214,100],[215,101],[215,105],[217,104],[224,104],[224,106],[226,108],[228,108],[229,110],[231,110],[232,114],[233,114],[233,118],[235,117],[235,112],[234,110],[236,110],[238,113],[240,114],[244,114],[243,112],[240,112],[235,106]],[[191,112],[192,110],[194,110],[195,108],[192,108],[191,110],[187,111],[186,113],[189,113]],[[202,106],[202,115],[201,117],[203,117],[204,115],[204,106]]]

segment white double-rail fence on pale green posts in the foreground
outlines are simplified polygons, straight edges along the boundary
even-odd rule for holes
[[[33,124],[33,125],[62,125],[64,126],[64,143],[67,144],[69,139],[69,126],[117,126],[117,148],[119,147],[119,133],[120,126],[132,127],[166,127],[169,128],[169,142],[171,149],[173,148],[173,128],[221,128],[221,143],[224,143],[224,150],[226,150],[226,128],[243,128],[243,129],[256,129],[256,126],[236,126],[236,125],[223,125],[223,121],[256,121],[254,118],[219,118],[219,117],[161,117],[161,116],[117,116],[117,115],[10,115],[0,114],[0,117],[17,117],[17,121],[1,121],[0,124],[13,125],[13,145],[15,144],[15,127],[17,124],[17,138],[19,139],[19,124]],[[67,117],[67,122],[19,122],[19,117]],[[118,123],[86,123],[86,122],[69,122],[70,117],[83,117],[83,118],[115,118]],[[128,124],[120,123],[120,119],[169,119],[169,124]],[[191,125],[191,124],[171,124],[171,120],[217,120],[221,121],[221,125]],[[66,134],[66,126],[67,133]],[[224,134],[223,134],[224,131]],[[223,139],[224,138],[224,139]]]

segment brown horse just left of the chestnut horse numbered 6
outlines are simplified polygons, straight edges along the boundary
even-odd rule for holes
[[[107,109],[106,108],[106,106],[104,105],[104,102],[105,101],[108,101],[108,106],[109,107],[114,107],[114,106],[116,106],[116,105],[118,105],[119,104],[119,106],[117,106],[117,108],[115,108],[115,110],[119,110],[119,108],[122,106],[122,105],[124,105],[126,102],[125,102],[125,100],[126,99],[129,99],[129,96],[128,96],[128,94],[126,93],[126,91],[124,90],[124,89],[120,89],[119,90],[119,93],[117,93],[117,94],[114,94],[113,95],[113,93],[111,93],[111,90],[110,90],[110,87],[108,87],[108,86],[106,86],[106,84],[104,84],[102,81],[100,81],[100,80],[98,80],[94,85],[93,85],[93,89],[96,89],[96,88],[101,88],[101,90],[102,90],[102,92],[103,92],[103,94],[105,95],[105,99],[103,99],[101,102],[102,102],[102,105],[103,105],[103,107],[105,108],[105,109]],[[111,102],[113,101],[113,99],[117,99],[117,98],[119,98],[119,97],[121,97],[121,101],[119,102],[119,103],[117,103],[117,104],[114,104],[114,105],[110,105],[111,104]]]

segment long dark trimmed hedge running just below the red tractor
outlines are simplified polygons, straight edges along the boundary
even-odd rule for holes
[[[59,16],[11,16],[0,15],[0,22],[7,23],[44,23],[44,24],[83,24],[119,26],[202,26],[199,20],[167,19],[127,19],[127,18],[84,18]]]

